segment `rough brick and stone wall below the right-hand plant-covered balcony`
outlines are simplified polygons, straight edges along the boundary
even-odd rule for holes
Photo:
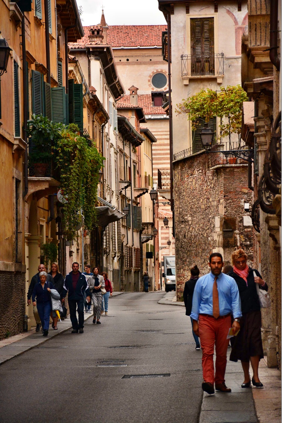
[[[244,203],[252,204],[248,167],[210,168],[210,154],[198,153],[173,165],[175,199],[175,265],[177,298],[181,299],[190,268],[209,272],[208,257],[218,251],[225,264],[239,245],[253,264],[253,227]]]

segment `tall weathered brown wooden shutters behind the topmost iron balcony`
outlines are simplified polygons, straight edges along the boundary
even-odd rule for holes
[[[192,75],[214,74],[214,18],[190,19]]]

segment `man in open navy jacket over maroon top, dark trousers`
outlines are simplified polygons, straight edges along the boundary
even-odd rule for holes
[[[90,291],[87,285],[87,280],[83,273],[79,272],[79,264],[77,261],[71,266],[69,272],[64,280],[62,303],[65,301],[68,293],[68,307],[70,319],[72,324],[71,333],[83,333],[84,330],[84,294],[86,293],[88,301],[90,301]],[[78,313],[78,321],[77,321]]]

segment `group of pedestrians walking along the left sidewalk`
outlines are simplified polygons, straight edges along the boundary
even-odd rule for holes
[[[63,316],[63,306],[68,294],[68,308],[72,324],[71,333],[83,333],[84,308],[85,313],[91,313],[93,304],[93,323],[101,324],[100,316],[108,314],[108,301],[112,296],[112,285],[107,272],[90,265],[85,266],[85,272],[79,271],[79,264],[74,262],[65,279],[59,271],[57,263],[52,263],[51,272],[47,274],[44,264],[38,266],[38,273],[30,281],[27,293],[27,305],[33,302],[33,315],[36,320],[36,332],[48,336],[49,323],[57,330],[58,313]],[[78,319],[77,319],[78,314]]]

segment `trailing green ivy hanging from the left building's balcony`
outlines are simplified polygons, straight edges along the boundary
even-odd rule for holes
[[[99,170],[104,157],[93,141],[89,145],[89,140],[80,136],[75,124],[65,126],[33,115],[28,121],[28,135],[38,148],[51,150],[60,188],[67,200],[63,204],[63,233],[71,241],[77,234],[81,210],[85,229],[90,231],[95,226]]]

